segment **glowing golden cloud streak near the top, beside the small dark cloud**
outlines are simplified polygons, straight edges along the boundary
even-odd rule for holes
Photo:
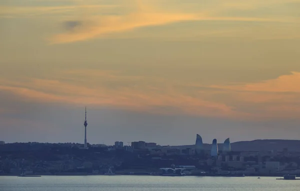
[[[132,0],[127,4],[132,3]],[[83,22],[92,23],[91,25],[81,25],[74,27],[72,31],[59,33],[48,38],[50,44],[68,43],[75,41],[88,40],[96,37],[103,37],[108,34],[130,31],[145,26],[165,25],[187,20],[220,20],[220,21],[276,21],[284,22],[281,18],[260,18],[255,16],[248,17],[228,17],[216,16],[214,12],[223,7],[209,7],[201,12],[184,12],[183,10],[163,10],[158,8],[155,1],[144,3],[142,0],[134,0],[136,10],[120,15],[89,15]],[[229,5],[231,6],[231,5]],[[127,6],[124,6],[124,8]]]

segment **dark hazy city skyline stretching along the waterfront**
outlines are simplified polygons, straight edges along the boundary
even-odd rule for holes
[[[0,174],[300,175],[299,151],[237,151],[232,150],[229,138],[223,144],[217,144],[216,139],[205,144],[197,134],[193,145],[145,141],[123,145],[115,141],[111,146],[88,142],[86,146],[88,149],[70,142],[0,142]]]

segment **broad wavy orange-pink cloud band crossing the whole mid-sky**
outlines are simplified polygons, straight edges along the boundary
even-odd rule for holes
[[[296,85],[300,82],[299,75],[299,72],[292,72],[241,85],[200,85],[186,91],[184,88],[192,85],[162,78],[128,76],[116,71],[71,70],[63,72],[64,78],[33,78],[23,82],[2,80],[5,85],[1,85],[0,90],[27,101],[111,106],[160,114],[235,119],[289,118],[300,114],[293,105],[300,104],[297,101],[300,89]],[[86,81],[76,81],[78,76],[86,77]],[[215,95],[230,96],[230,99],[213,98]]]

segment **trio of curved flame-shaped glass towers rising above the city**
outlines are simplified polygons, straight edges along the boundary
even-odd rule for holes
[[[197,134],[197,136],[196,136],[195,150],[196,150],[196,153],[201,153],[201,152],[204,151],[202,137],[199,134]],[[231,151],[231,145],[230,145],[230,139],[229,138],[227,138],[224,141],[222,151],[223,152],[229,152],[229,151]],[[210,155],[211,156],[217,156],[217,153],[218,153],[218,146],[217,146],[217,141],[214,138],[212,140],[212,145],[211,145],[211,149],[210,149]]]

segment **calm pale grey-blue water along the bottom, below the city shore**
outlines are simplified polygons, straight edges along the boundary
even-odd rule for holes
[[[0,176],[0,191],[299,191],[300,180],[275,177],[164,177],[164,176]]]

